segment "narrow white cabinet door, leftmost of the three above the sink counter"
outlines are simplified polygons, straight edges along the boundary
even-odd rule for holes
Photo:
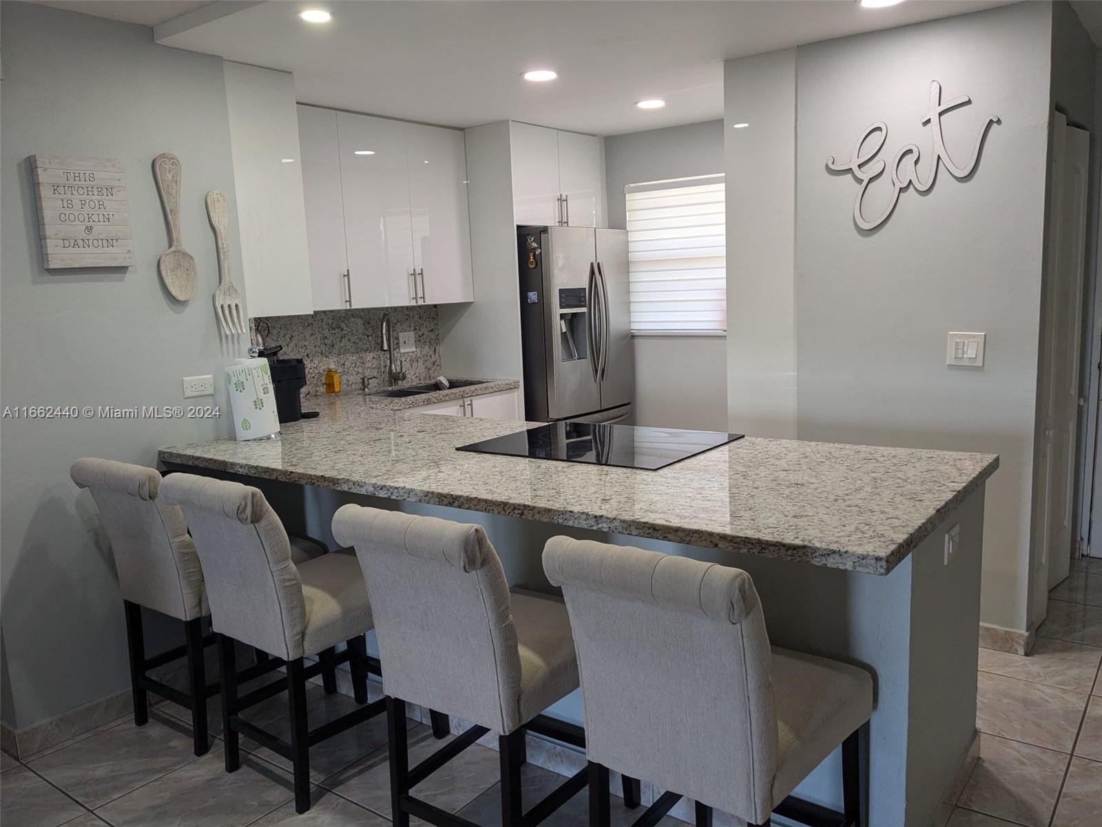
[[[299,106],[298,111],[314,310],[337,310],[348,307],[337,114],[315,106]]]

